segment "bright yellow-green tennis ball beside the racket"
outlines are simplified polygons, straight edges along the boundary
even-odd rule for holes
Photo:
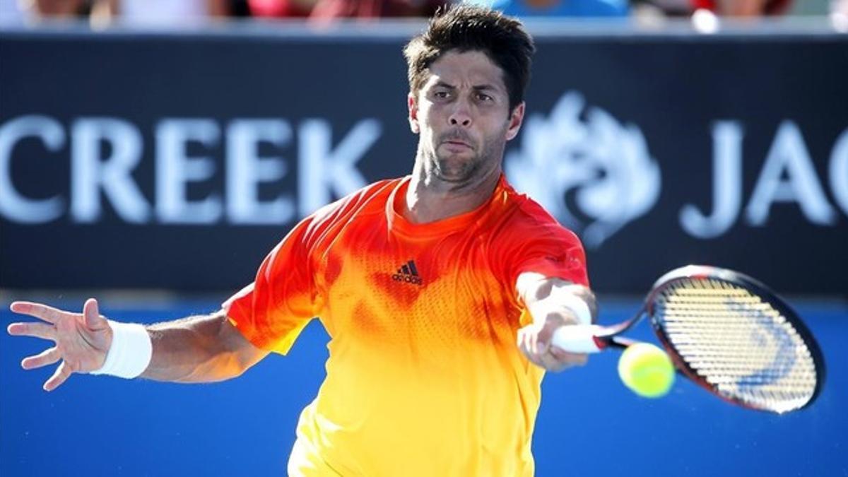
[[[674,384],[674,365],[665,351],[650,343],[630,345],[618,360],[618,376],[639,396],[666,396]]]

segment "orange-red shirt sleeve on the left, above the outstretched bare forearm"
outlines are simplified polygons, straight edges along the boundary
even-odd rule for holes
[[[317,313],[309,243],[313,220],[298,223],[262,261],[254,283],[223,304],[230,323],[264,350],[286,354]]]

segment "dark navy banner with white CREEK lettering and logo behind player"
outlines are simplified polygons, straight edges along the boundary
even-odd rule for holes
[[[299,216],[410,171],[405,38],[0,31],[0,287],[249,283]],[[702,262],[845,295],[848,37],[537,40],[505,169],[596,289]]]

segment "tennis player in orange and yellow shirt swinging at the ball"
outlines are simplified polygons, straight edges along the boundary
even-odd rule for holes
[[[53,340],[26,369],[177,382],[230,379],[286,354],[320,317],[326,379],[300,416],[296,476],[533,475],[544,370],[586,362],[550,345],[589,323],[583,247],[501,171],[522,126],[533,40],[517,20],[450,8],[404,49],[408,177],[376,182],[306,217],[254,283],[204,317],[144,327],[30,302],[44,323],[10,334]],[[517,345],[516,345],[517,342]]]

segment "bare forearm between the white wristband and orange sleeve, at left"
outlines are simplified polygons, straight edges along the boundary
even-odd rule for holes
[[[153,356],[142,378],[176,383],[209,383],[235,378],[268,351],[243,337],[221,310],[147,327]]]

